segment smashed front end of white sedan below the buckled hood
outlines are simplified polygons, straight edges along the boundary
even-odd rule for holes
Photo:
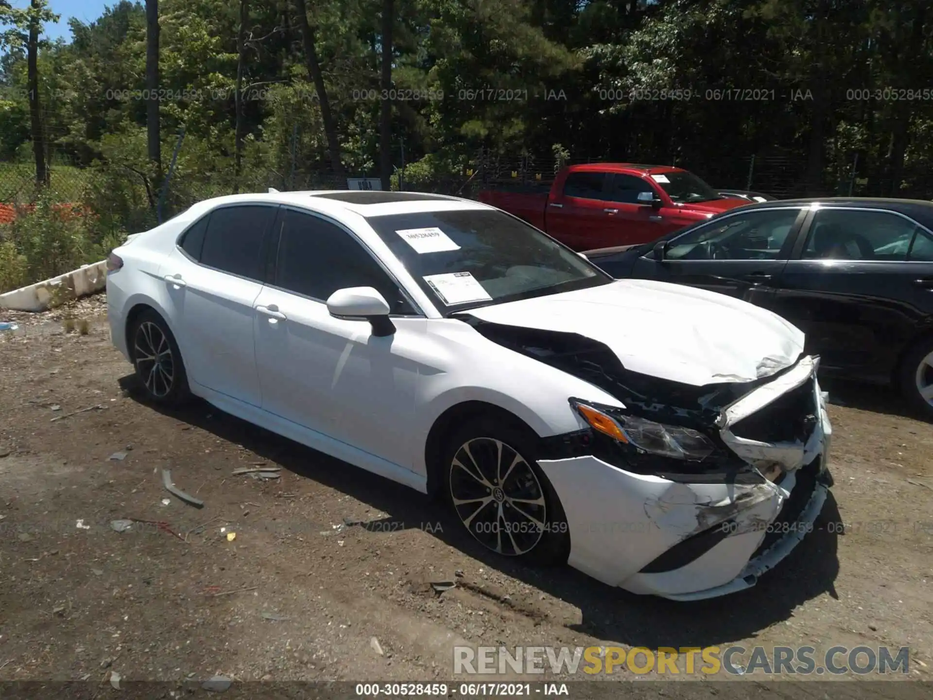
[[[628,371],[606,344],[578,334],[467,322],[622,404],[570,398],[587,427],[542,441],[539,462],[552,481],[566,479],[560,468],[584,455],[614,468],[609,481],[593,488],[615,480],[634,489],[644,514],[627,519],[630,529],[641,518],[647,529],[634,531],[657,528],[660,535],[620,547],[634,567],[587,561],[618,545],[593,534],[594,519],[608,515],[581,501],[591,512],[577,530],[589,522],[589,541],[579,543],[571,564],[635,593],[701,599],[755,585],[813,529],[831,485],[831,426],[816,379],[818,357],[751,382],[693,386]],[[616,573],[597,573],[606,567]]]

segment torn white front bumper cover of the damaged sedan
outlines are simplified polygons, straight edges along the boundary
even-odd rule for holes
[[[813,529],[831,484],[832,427],[815,377],[817,366],[818,358],[804,357],[723,409],[719,435],[746,465],[741,480],[690,483],[682,476],[621,469],[592,455],[538,460],[564,506],[569,564],[633,593],[674,600],[754,586]],[[806,441],[749,440],[732,432],[739,421],[808,383],[817,415]],[[774,477],[778,472],[780,479]],[[793,517],[782,517],[792,500]],[[675,568],[651,566],[677,545],[715,528],[722,535],[708,538],[693,558]]]

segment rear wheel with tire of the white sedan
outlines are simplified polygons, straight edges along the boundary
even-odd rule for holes
[[[136,316],[128,340],[132,366],[146,399],[163,406],[180,406],[191,398],[178,343],[159,314],[148,309]]]

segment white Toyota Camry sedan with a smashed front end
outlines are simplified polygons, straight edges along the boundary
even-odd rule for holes
[[[198,203],[108,261],[113,343],[190,395],[445,498],[505,556],[676,600],[814,527],[831,428],[803,334],[613,280],[492,207],[413,192]]]

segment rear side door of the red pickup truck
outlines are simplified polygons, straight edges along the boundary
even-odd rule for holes
[[[545,211],[545,231],[574,250],[590,250],[606,227],[609,173],[570,172],[554,183]]]

